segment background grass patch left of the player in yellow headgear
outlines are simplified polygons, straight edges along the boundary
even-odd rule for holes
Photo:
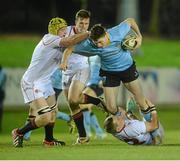
[[[27,67],[40,39],[39,36],[28,35],[1,37],[0,64],[5,67]]]

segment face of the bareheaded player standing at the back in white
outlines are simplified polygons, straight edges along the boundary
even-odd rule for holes
[[[86,32],[89,28],[89,18],[78,18],[76,20],[76,32],[81,33],[81,32]]]

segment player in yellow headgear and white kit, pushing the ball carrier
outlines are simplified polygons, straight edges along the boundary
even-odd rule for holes
[[[23,127],[12,131],[15,147],[22,147],[23,135],[39,127],[45,127],[45,146],[65,145],[53,137],[57,103],[50,77],[58,68],[63,47],[84,40],[88,37],[88,32],[65,37],[67,23],[58,17],[49,22],[48,31],[34,49],[30,65],[21,80],[24,101],[29,104],[30,115],[34,118]]]

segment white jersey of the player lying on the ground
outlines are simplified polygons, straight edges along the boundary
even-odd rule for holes
[[[132,145],[152,144],[152,136],[146,132],[145,122],[139,120],[126,119],[122,130],[113,136]]]

